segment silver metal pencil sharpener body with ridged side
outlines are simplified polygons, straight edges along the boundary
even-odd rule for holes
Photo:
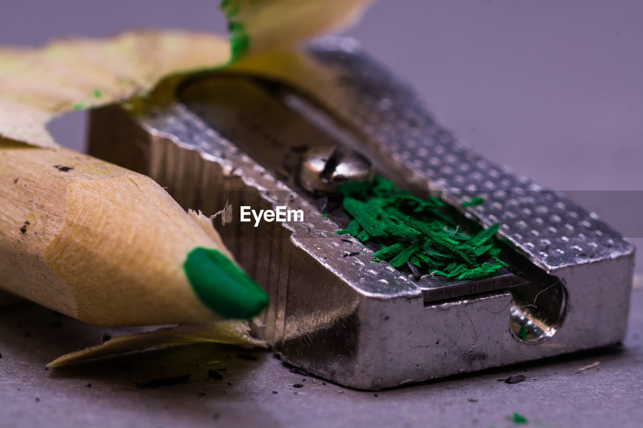
[[[264,89],[275,105],[259,100],[240,113],[244,102],[237,101],[246,95],[226,94],[226,87],[241,89],[217,79],[242,76],[192,78],[144,114],[120,105],[91,113],[94,156],[149,175],[185,208],[212,215],[226,201],[233,206],[234,221],[217,228],[271,296],[258,334],[282,359],[375,390],[622,340],[634,249],[619,233],[561,193],[465,147],[354,40],[319,39],[307,55],[336,79],[341,96],[327,107],[359,130],[358,147],[350,147],[353,137],[342,136],[342,127],[309,138],[308,127],[320,125],[315,113],[302,107],[304,98],[293,102],[271,85]],[[248,82],[252,98],[257,85]],[[226,105],[226,97],[235,101]],[[286,108],[311,117],[284,120]],[[345,226],[341,213],[320,209],[325,199],[318,193],[332,184],[334,170],[302,169],[310,156],[319,160],[319,150],[327,150],[323,161],[338,157],[338,145],[349,146],[338,165],[359,171],[364,157],[378,174],[439,194],[470,221],[498,222],[515,265],[491,280],[448,283],[372,262],[372,249],[336,233]],[[312,161],[305,168],[314,170]],[[306,181],[322,173],[320,183]],[[463,207],[471,197],[485,202]],[[240,206],[287,206],[302,210],[304,221],[254,227],[237,221]]]

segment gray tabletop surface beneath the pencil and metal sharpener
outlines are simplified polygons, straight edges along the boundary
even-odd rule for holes
[[[0,308],[0,427],[640,427],[641,308],[637,287],[622,346],[373,393],[292,373],[269,351],[212,344],[46,370],[55,357],[123,330],[18,303]],[[223,379],[210,379],[210,369]],[[184,384],[134,385],[187,373]],[[510,375],[526,380],[498,381]],[[528,423],[511,422],[514,412]]]

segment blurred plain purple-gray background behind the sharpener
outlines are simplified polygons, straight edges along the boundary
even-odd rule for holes
[[[226,28],[214,0],[2,1],[0,44]],[[643,2],[380,0],[346,34],[476,150],[643,244]],[[85,125],[77,112],[50,129],[82,148]]]

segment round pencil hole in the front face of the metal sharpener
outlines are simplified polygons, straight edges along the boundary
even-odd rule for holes
[[[510,290],[509,324],[516,339],[536,344],[556,334],[567,307],[567,291],[560,281],[526,283]]]

